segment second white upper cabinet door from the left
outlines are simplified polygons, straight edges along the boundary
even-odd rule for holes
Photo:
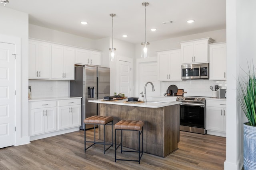
[[[38,43],[38,77],[50,78],[50,45]]]

